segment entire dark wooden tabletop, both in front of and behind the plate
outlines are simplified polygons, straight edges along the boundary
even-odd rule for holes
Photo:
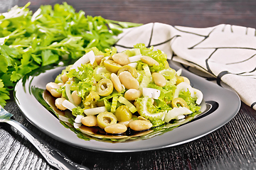
[[[24,6],[28,1],[19,0]],[[220,23],[256,28],[256,1],[214,0],[73,0],[67,1],[87,15],[135,23],[160,22],[172,26],[208,27]],[[31,10],[60,0],[31,0]],[[232,107],[232,106],[230,106]],[[135,153],[93,152],[65,145],[44,134],[26,120],[14,98],[6,110],[14,119],[90,169],[256,169],[256,111],[242,103],[238,114],[222,128],[176,147]],[[225,113],[223,113],[225,114]],[[10,125],[0,125],[0,169],[54,169]]]

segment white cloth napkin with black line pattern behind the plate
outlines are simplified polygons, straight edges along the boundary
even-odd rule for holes
[[[118,51],[137,43],[162,50],[170,60],[196,67],[232,87],[256,110],[256,32],[226,24],[210,28],[148,23],[118,36]]]

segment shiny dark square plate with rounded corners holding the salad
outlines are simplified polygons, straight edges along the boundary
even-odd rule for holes
[[[170,63],[170,66],[176,70],[180,69],[174,63]],[[34,77],[18,81],[15,87],[16,103],[26,118],[47,135],[55,140],[82,149],[104,152],[139,152],[181,145],[217,130],[225,123],[228,123],[240,109],[240,98],[234,91],[224,89],[183,69],[182,75],[190,79],[194,88],[203,92],[204,101],[206,103],[208,101],[217,103],[218,107],[210,114],[201,116],[201,118],[195,119],[190,123],[147,140],[118,143],[96,140],[85,141],[78,138],[75,132],[60,124],[55,115],[44,108],[31,93],[31,87],[46,89],[46,84],[54,81],[62,69],[63,67],[51,68]]]

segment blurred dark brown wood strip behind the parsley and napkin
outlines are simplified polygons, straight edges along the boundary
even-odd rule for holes
[[[85,11],[86,15],[129,21],[135,23],[167,23],[172,26],[209,27],[221,23],[256,26],[255,1],[100,1],[100,0],[67,0],[77,11]],[[23,6],[26,0],[20,0]],[[41,4],[62,4],[60,0],[31,0],[30,8],[36,11]]]

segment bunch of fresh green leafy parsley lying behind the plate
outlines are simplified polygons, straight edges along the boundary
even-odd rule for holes
[[[5,106],[16,81],[34,70],[75,60],[90,47],[104,51],[123,28],[137,23],[85,16],[67,3],[41,6],[35,13],[14,6],[0,13],[0,105]]]

